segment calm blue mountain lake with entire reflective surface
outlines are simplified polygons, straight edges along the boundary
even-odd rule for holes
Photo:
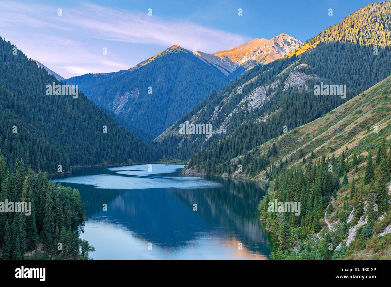
[[[265,186],[182,176],[182,168],[88,168],[54,180],[86,203],[80,237],[95,247],[95,260],[267,259],[271,237],[256,210]]]

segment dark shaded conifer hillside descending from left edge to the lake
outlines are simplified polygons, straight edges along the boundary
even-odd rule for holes
[[[59,82],[11,43],[0,39],[0,148],[13,167],[50,174],[75,166],[151,162],[151,146],[120,127],[79,89],[77,98],[47,95]],[[16,55],[13,53],[16,51]],[[104,132],[104,126],[107,132]]]

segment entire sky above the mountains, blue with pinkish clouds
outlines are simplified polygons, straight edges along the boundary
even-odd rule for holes
[[[307,41],[373,2],[0,0],[0,36],[69,78],[128,69],[174,44],[213,53],[281,33]]]

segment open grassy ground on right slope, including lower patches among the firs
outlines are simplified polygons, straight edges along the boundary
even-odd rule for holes
[[[302,165],[302,160],[299,158],[300,148],[303,149],[306,159],[309,159],[310,153],[314,151],[315,159],[318,160],[322,154],[327,157],[338,157],[345,150],[347,164],[352,163],[352,155],[355,152],[359,155],[366,156],[371,151],[373,162],[375,162],[378,146],[383,137],[390,139],[391,137],[391,76],[382,80],[375,86],[369,88],[364,93],[352,98],[343,105],[337,107],[333,111],[328,112],[322,117],[312,121],[306,125],[289,131],[279,137],[276,137],[258,148],[262,153],[267,153],[269,147],[276,143],[278,155],[271,158],[271,164],[274,160],[276,163],[280,159],[290,159],[293,156],[293,161],[289,162],[289,166]],[[374,126],[377,126],[378,132],[374,132]],[[368,127],[370,131],[368,132]],[[296,130],[296,133],[295,133]],[[348,150],[346,151],[346,146]],[[388,146],[388,144],[387,144]],[[333,148],[334,152],[330,152]],[[308,160],[307,160],[308,161]],[[348,172],[349,182],[354,178],[356,188],[362,184],[365,173],[366,161],[364,160],[359,165],[359,170],[350,166]],[[375,166],[375,178],[377,174]],[[255,179],[264,179],[265,171],[255,176]],[[340,178],[342,182],[342,178]],[[334,203],[334,212],[327,215],[328,221],[333,223],[335,219],[335,211],[343,210],[344,197],[350,199],[350,185],[345,185],[339,189],[337,198]],[[350,202],[350,201],[349,201]],[[352,210],[351,203],[348,206],[348,212]],[[350,249],[346,255],[346,259],[389,259],[391,254],[391,235],[378,237],[387,226],[391,224],[391,212],[387,212],[388,216],[376,227],[376,234],[368,239],[368,241],[359,244],[355,241],[350,245]],[[325,221],[321,223],[326,227]],[[357,239],[356,239],[357,240]]]

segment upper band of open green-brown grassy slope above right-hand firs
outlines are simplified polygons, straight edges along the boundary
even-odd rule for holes
[[[386,132],[387,139],[390,138],[390,85],[391,77],[388,77],[320,118],[289,130],[288,133],[258,146],[258,149],[261,154],[266,154],[269,147],[276,143],[278,155],[270,158],[271,164],[273,161],[277,163],[280,159],[285,162],[292,155],[294,160],[289,162],[290,166],[301,164],[300,148],[303,149],[306,159],[312,151],[315,153],[315,160],[322,154],[325,154],[326,158],[331,157],[333,153],[338,157],[346,145],[349,149],[346,154],[348,161],[351,160],[349,156],[354,151],[357,156],[367,155],[368,148],[373,149],[372,154],[375,157],[375,147],[380,141],[380,135]],[[378,127],[378,133],[373,132],[375,125]],[[370,132],[367,131],[368,127],[371,127]],[[331,148],[334,152],[330,152]],[[264,175],[265,171],[262,171],[255,179],[262,180]],[[352,172],[348,173],[348,178],[352,177]]]

